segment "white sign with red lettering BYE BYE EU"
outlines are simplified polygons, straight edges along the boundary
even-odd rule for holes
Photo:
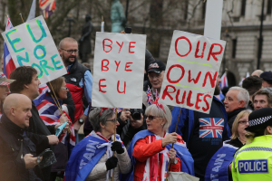
[[[96,33],[92,106],[141,109],[146,35]]]

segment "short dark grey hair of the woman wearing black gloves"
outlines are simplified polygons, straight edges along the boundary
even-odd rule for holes
[[[101,131],[100,123],[105,125],[107,119],[111,119],[114,114],[112,109],[103,110],[100,115],[101,111],[102,108],[95,108],[89,113],[89,121],[91,122],[94,131]]]

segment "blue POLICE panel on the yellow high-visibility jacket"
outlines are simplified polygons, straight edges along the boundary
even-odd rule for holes
[[[238,160],[239,174],[268,173],[268,159]]]

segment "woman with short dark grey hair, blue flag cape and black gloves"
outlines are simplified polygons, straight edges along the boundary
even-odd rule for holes
[[[119,135],[115,135],[114,141],[114,129],[119,125],[118,121],[114,125],[115,113],[112,109],[95,108],[89,118],[93,131],[73,148],[65,181],[112,180],[113,168],[113,180],[119,181],[120,173],[127,174],[131,170],[131,159]],[[116,151],[115,157],[113,151]]]

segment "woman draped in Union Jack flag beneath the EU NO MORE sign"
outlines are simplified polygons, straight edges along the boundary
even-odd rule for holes
[[[59,104],[61,108],[65,108],[63,105],[63,100],[67,99],[67,92],[69,91],[66,87],[66,83],[63,77],[59,77],[53,81],[47,83],[48,87],[44,84],[44,89],[42,90],[44,93],[38,97],[37,100],[34,100],[37,110],[39,111],[39,115],[41,119],[44,120],[45,125],[60,125],[66,122],[70,125],[70,132],[62,133],[59,136],[59,144],[54,147],[54,155],[57,159],[57,162],[53,164],[51,169],[51,180],[55,180],[57,176],[57,172],[63,172],[65,170],[68,157],[70,156],[74,146],[75,146],[75,137],[73,124],[71,119],[66,112],[67,109],[62,109],[63,114],[60,112],[58,106]],[[53,92],[57,99],[55,99]],[[66,111],[65,111],[66,110]],[[66,126],[66,127],[67,127]],[[68,128],[66,128],[68,129]]]

